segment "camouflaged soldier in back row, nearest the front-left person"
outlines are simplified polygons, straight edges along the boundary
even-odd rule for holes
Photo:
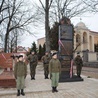
[[[32,51],[31,54],[28,56],[28,60],[30,62],[31,80],[35,80],[36,66],[37,66],[37,63],[38,63],[38,57],[37,57],[37,55],[35,55],[34,51]]]

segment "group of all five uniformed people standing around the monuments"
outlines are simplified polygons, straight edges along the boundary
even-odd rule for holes
[[[35,80],[38,57],[35,52],[32,51],[31,54],[27,56],[26,60],[30,65],[31,80]],[[50,76],[52,92],[58,92],[57,87],[61,74],[61,62],[58,59],[57,52],[52,53],[52,55],[50,56],[49,52],[46,51],[41,61],[43,62],[45,79],[49,79]],[[77,76],[80,77],[83,61],[79,53],[77,53],[77,56],[74,61],[77,65]],[[24,62],[23,55],[19,55],[17,57],[17,61],[15,62],[14,66],[14,76],[16,79],[17,96],[20,96],[20,94],[24,96],[25,79],[27,76],[27,64]]]

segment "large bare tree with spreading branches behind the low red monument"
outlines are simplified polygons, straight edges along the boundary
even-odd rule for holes
[[[32,34],[32,32],[30,32],[30,24],[36,20],[36,14],[33,12],[34,9],[27,6],[27,2],[24,2],[24,0],[5,0],[4,3],[3,5],[6,5],[7,9],[4,10],[2,16],[7,18],[2,18],[5,20],[1,25],[3,26],[3,30],[6,30],[4,52],[7,52],[9,34],[15,29],[18,29],[18,32],[29,32]]]

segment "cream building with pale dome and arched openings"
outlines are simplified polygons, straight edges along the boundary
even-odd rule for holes
[[[78,46],[76,53],[88,50],[88,61],[97,61],[94,45],[98,43],[98,32],[90,31],[83,22],[75,26],[74,49]],[[76,56],[75,53],[75,56]]]

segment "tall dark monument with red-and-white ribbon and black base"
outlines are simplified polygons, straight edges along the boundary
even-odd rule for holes
[[[83,81],[73,75],[74,28],[70,19],[63,17],[59,25],[59,59],[61,61],[60,82]]]

